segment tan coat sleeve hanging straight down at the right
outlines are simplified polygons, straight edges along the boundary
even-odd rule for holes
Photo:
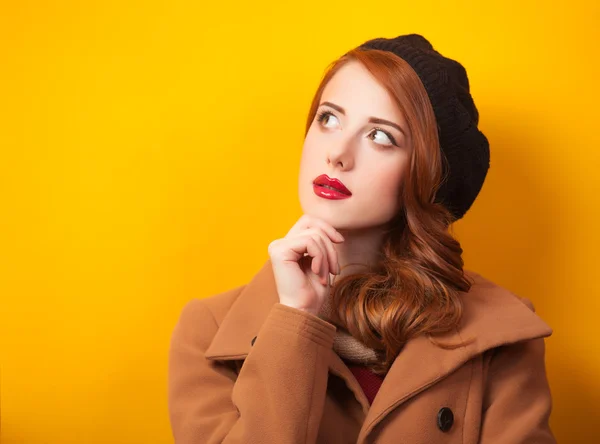
[[[484,395],[481,444],[555,444],[544,338],[494,350]]]

